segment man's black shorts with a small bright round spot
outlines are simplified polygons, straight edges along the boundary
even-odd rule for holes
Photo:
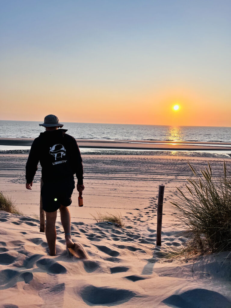
[[[74,188],[75,181],[73,179],[43,183],[41,196],[44,211],[55,212],[60,208],[60,205],[71,205],[71,195]]]

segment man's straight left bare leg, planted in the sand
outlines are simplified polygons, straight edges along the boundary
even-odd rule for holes
[[[47,244],[50,249],[50,255],[55,256],[55,241],[56,241],[56,229],[55,229],[55,221],[57,217],[57,211],[55,212],[45,212],[46,213],[46,228],[45,234],[47,237]]]

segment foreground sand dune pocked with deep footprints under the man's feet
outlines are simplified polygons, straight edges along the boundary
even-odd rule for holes
[[[149,223],[117,229],[73,222],[72,238],[89,255],[81,260],[67,253],[59,222],[57,255],[51,257],[38,220],[3,211],[0,217],[0,307],[231,306],[227,253],[201,257],[194,264],[161,261],[161,251],[184,241],[177,232],[163,230],[171,245],[160,249]]]

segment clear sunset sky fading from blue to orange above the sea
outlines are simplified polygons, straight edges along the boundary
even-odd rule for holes
[[[0,120],[231,126],[230,16],[230,0],[2,0]]]

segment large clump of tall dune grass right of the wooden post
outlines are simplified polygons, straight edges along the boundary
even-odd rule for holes
[[[184,189],[177,188],[172,203],[175,217],[187,238],[180,254],[205,254],[231,250],[231,177],[224,161],[223,171],[213,174],[211,165],[198,173]]]

